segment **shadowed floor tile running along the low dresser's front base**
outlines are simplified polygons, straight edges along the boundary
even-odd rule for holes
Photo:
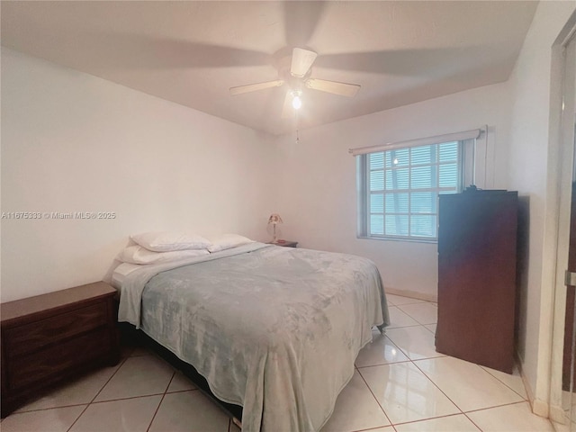
[[[105,367],[91,374],[80,376],[72,382],[59,385],[43,393],[39,399],[31,401],[17,412],[88,404],[94,400],[96,394],[102,390],[118,367],[120,365]]]

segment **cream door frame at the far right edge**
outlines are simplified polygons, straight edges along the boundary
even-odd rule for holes
[[[563,345],[564,320],[566,311],[566,286],[564,285],[564,272],[568,265],[568,249],[570,238],[570,213],[572,202],[572,171],[574,169],[574,141],[573,124],[576,97],[573,94],[564,94],[567,79],[575,79],[574,68],[572,76],[566,76],[565,50],[574,40],[576,34],[576,13],[561,31],[552,47],[551,69],[551,104],[550,104],[550,146],[548,147],[548,178],[547,193],[553,211],[556,213],[554,226],[549,227],[555,237],[555,269],[552,282],[551,296],[554,299],[554,310],[550,315],[552,323],[552,346],[550,356],[550,400],[549,417],[555,422],[563,424],[565,414],[563,410]],[[563,107],[565,110],[563,110]],[[567,113],[569,112],[569,113]],[[567,128],[572,128],[572,142],[567,137]],[[558,169],[560,168],[560,169]],[[543,293],[545,287],[543,286]],[[543,315],[545,317],[545,315]],[[544,320],[541,326],[546,327]],[[542,333],[541,333],[542,334]]]

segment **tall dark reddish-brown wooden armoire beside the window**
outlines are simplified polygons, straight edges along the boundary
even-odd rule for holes
[[[518,193],[443,194],[437,352],[512,373]]]

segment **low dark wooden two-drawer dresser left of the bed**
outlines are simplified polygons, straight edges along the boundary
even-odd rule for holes
[[[118,362],[115,295],[97,282],[0,305],[2,418],[53,383]]]

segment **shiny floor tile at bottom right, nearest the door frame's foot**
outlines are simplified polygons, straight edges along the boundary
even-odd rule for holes
[[[528,402],[467,413],[482,432],[554,432],[548,419],[536,416]]]

